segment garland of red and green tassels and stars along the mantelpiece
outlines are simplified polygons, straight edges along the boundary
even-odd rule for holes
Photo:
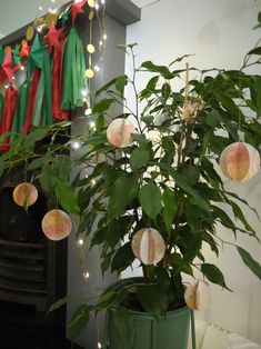
[[[74,26],[79,13],[87,16],[90,24],[88,69],[84,46]],[[100,52],[93,68],[94,17],[100,28]],[[104,0],[76,0],[60,16],[50,10],[46,18],[37,17],[20,46],[4,50],[0,47],[0,86],[6,88],[6,96],[0,93],[0,136],[11,132],[1,151],[7,151],[9,142],[27,133],[31,126],[68,120],[70,110],[86,106],[88,80],[99,71],[106,39]],[[17,70],[24,70],[26,79],[16,88]]]

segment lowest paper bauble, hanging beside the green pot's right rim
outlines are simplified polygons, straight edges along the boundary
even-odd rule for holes
[[[184,300],[187,306],[193,310],[208,310],[211,302],[209,283],[204,280],[189,283],[184,291]]]

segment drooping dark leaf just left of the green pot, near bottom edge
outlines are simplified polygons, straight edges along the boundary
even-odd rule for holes
[[[86,329],[90,318],[91,307],[81,305],[73,313],[69,323],[68,335],[71,340],[76,340]]]

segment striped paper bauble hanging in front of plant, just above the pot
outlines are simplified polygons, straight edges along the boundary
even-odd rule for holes
[[[158,263],[165,252],[165,243],[159,231],[144,228],[137,231],[131,241],[133,255],[144,265]]]

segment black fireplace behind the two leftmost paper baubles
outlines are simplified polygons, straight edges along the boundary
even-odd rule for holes
[[[46,317],[67,295],[67,240],[43,235],[42,217],[54,202],[40,190],[28,212],[16,205],[21,174],[9,173],[0,183],[0,348],[67,348],[66,308]]]

